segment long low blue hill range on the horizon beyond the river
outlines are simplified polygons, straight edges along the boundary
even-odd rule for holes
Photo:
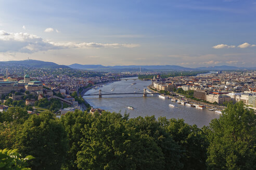
[[[70,68],[88,69],[88,70],[197,70],[195,68],[187,68],[177,65],[117,65],[117,66],[103,66],[103,65],[82,65],[72,64]]]

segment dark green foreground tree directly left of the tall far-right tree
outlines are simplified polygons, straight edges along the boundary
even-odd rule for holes
[[[206,135],[196,125],[188,125],[183,119],[159,118],[170,136],[183,150],[182,169],[206,169],[208,142]]]

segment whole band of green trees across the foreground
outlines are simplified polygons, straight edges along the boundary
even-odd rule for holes
[[[19,158],[32,155],[22,164],[31,169],[256,169],[256,115],[229,104],[199,129],[183,119],[79,110],[57,119],[50,111],[28,115],[12,107],[0,112],[5,148],[18,149]]]

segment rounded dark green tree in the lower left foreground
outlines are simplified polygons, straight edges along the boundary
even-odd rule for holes
[[[60,169],[68,149],[65,129],[50,112],[32,115],[18,135],[18,148],[36,158],[29,163],[32,169]]]

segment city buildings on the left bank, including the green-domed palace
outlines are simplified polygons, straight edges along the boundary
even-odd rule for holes
[[[16,70],[16,72],[18,71],[19,70]],[[52,70],[53,74],[50,74],[50,70],[42,69],[38,71],[40,73],[42,72],[40,76],[33,76],[31,78],[26,74],[23,77],[19,77],[15,74],[9,74],[7,68],[5,75],[0,74],[0,96],[8,95],[9,98],[12,98],[12,101],[19,101],[23,100],[23,96],[26,95],[24,92],[29,91],[30,94],[35,96],[35,98],[27,98],[27,100],[25,100],[25,105],[31,106],[33,106],[37,100],[41,100],[45,97],[47,97],[48,100],[50,100],[50,98],[58,98],[61,102],[65,102],[70,106],[60,110],[60,113],[63,115],[68,111],[82,109],[78,102],[75,101],[75,98],[71,96],[72,93],[78,93],[80,89],[88,87],[89,85],[93,86],[97,83],[113,81],[122,76],[125,77],[132,75],[131,73],[104,73],[99,74],[101,76],[97,76],[95,73],[92,73],[92,75],[87,73],[87,76],[76,77],[76,72],[74,71],[58,75],[56,75],[55,70]],[[12,93],[11,96],[9,96],[10,93]],[[55,95],[58,93],[65,98],[60,98]],[[2,97],[1,102],[4,103],[5,101],[6,100]],[[3,106],[2,109],[4,110],[6,107]]]

